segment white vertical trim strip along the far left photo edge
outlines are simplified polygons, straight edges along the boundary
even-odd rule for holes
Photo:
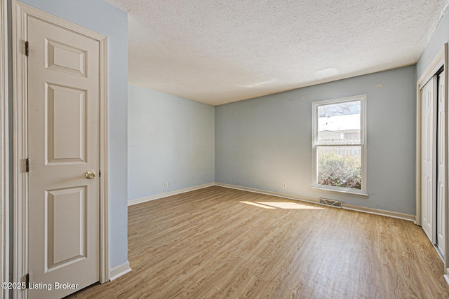
[[[0,157],[0,264],[1,281],[9,281],[9,110],[8,110],[8,13],[6,11],[6,0],[0,1],[0,67],[1,67],[1,157]],[[0,291],[0,298],[9,298],[8,290]]]

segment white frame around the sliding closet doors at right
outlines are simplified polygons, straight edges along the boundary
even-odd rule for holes
[[[444,172],[445,172],[445,209],[444,209],[444,228],[445,228],[445,252],[444,252],[444,277],[449,284],[449,178],[448,178],[448,43],[445,43],[443,48],[434,57],[434,60],[429,64],[422,76],[417,81],[417,106],[416,106],[416,218],[415,224],[421,225],[421,88],[433,77],[439,69],[443,67],[445,75],[444,84],[444,101],[445,105],[445,142],[444,142]],[[436,229],[436,228],[434,228]],[[434,241],[432,241],[434,242]]]

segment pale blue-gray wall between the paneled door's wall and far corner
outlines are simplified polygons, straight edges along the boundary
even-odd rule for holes
[[[213,106],[128,86],[128,200],[213,183],[214,159]]]

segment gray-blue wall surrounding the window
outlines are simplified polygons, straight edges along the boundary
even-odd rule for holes
[[[415,71],[405,67],[216,106],[215,181],[415,215]],[[361,94],[368,97],[369,197],[311,189],[311,103]]]

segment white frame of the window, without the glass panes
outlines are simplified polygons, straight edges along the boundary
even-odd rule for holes
[[[319,185],[318,183],[318,148],[321,145],[318,143],[318,108],[319,106],[329,105],[329,104],[340,104],[345,102],[356,102],[360,101],[360,144],[347,144],[348,146],[361,146],[361,189],[353,188],[343,188],[336,186],[325,186]],[[311,188],[319,190],[333,191],[337,193],[347,193],[349,195],[358,195],[361,197],[368,197],[366,188],[366,165],[367,165],[367,155],[366,155],[366,95],[355,95],[351,97],[340,97],[337,99],[326,99],[323,101],[312,102],[312,183]],[[346,144],[337,145],[346,146]]]

